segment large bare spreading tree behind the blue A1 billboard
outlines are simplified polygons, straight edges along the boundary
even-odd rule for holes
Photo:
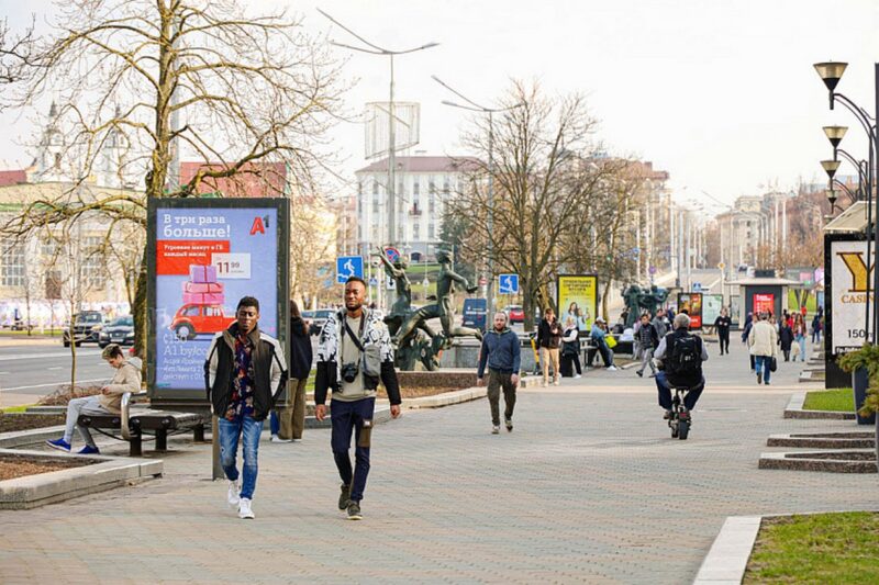
[[[4,105],[57,100],[54,146],[77,161],[63,198],[27,205],[7,228],[76,221],[98,212],[145,225],[146,201],[187,196],[204,182],[259,175],[282,164],[294,191],[320,170],[320,146],[344,88],[338,64],[283,12],[249,16],[236,0],[70,0],[58,2],[55,34],[27,45],[16,91]],[[145,192],[81,198],[114,140],[122,175]],[[116,145],[119,149],[119,146]],[[178,184],[175,149],[204,162]],[[141,182],[143,181],[143,182]],[[142,257],[145,268],[145,256]],[[134,302],[145,355],[146,272]]]

